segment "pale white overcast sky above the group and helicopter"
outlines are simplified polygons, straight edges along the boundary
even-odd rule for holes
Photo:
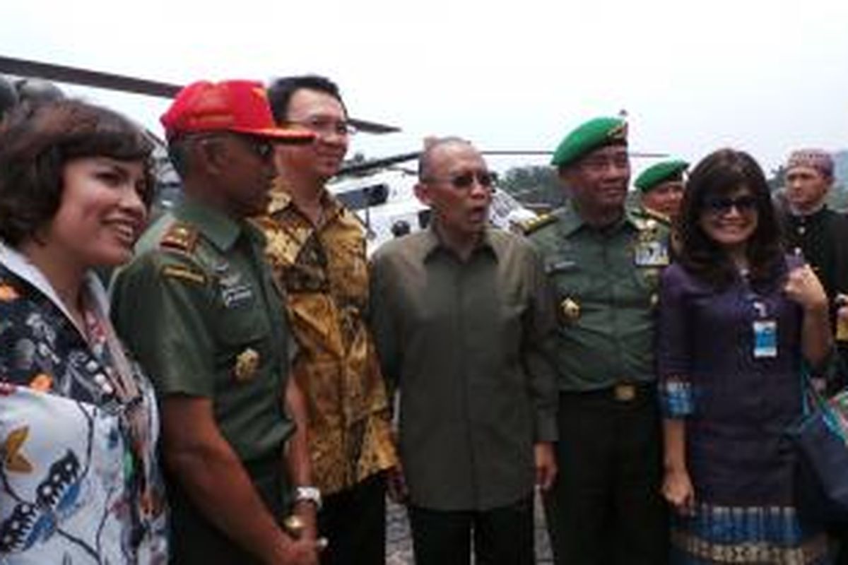
[[[351,114],[404,129],[358,136],[368,157],[414,151],[428,135],[550,150],[622,108],[634,151],[691,161],[733,146],[768,172],[793,147],[848,147],[845,0],[4,4],[9,57],[180,84],[328,75]],[[167,101],[66,90],[161,131]]]

